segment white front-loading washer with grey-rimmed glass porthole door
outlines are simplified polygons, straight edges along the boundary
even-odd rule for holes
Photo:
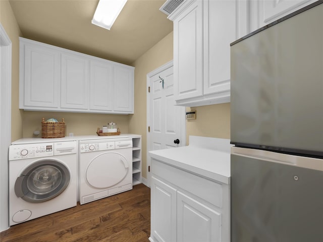
[[[9,147],[10,225],[76,206],[77,142]]]

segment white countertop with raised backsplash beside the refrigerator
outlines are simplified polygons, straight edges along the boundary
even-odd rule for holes
[[[149,155],[169,165],[229,184],[230,140],[198,136],[190,136],[189,140],[188,146],[149,151]]]

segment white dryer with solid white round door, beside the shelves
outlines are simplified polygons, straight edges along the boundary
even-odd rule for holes
[[[132,139],[79,141],[79,201],[92,202],[132,189]]]

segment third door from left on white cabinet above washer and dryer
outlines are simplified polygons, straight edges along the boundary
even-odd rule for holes
[[[112,66],[91,61],[90,73],[90,109],[112,111]]]

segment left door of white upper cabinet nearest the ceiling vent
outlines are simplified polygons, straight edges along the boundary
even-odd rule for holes
[[[174,20],[175,100],[203,95],[203,1],[196,1]]]

